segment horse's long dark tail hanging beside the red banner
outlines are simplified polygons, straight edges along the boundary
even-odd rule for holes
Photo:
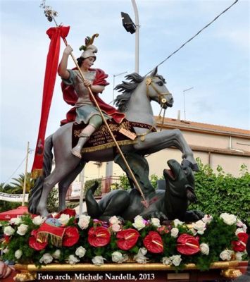
[[[44,144],[44,163],[43,163],[43,175],[39,176],[35,182],[35,185],[30,190],[30,197],[28,202],[28,211],[31,214],[37,214],[37,206],[42,196],[42,188],[44,186],[44,179],[50,175],[52,168],[52,147],[53,147],[53,135],[49,135],[46,138]]]

